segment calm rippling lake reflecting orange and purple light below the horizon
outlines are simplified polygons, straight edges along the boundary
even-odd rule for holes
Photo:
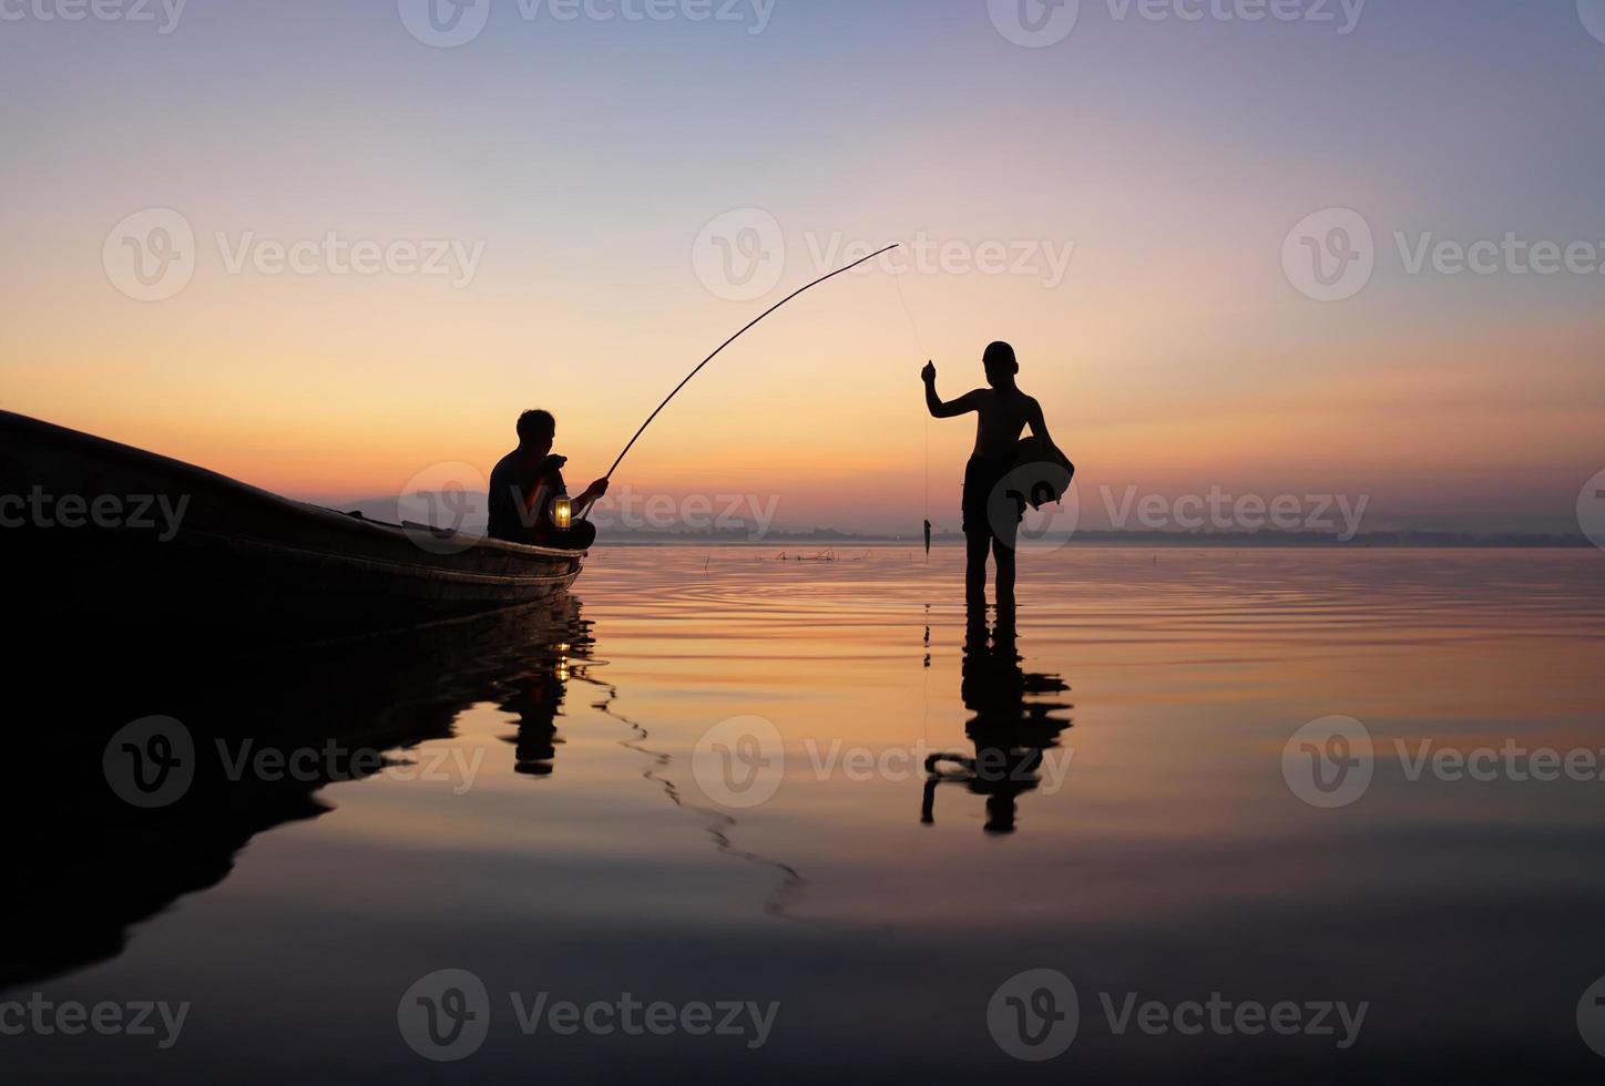
[[[1605,1070],[1605,555],[778,553],[21,675],[5,1080]]]

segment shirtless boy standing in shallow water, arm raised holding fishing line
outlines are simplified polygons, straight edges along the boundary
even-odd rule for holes
[[[1014,383],[1019,374],[1019,361],[1014,348],[1008,343],[992,343],[981,359],[987,372],[990,388],[977,388],[965,393],[952,403],[942,403],[936,395],[936,364],[926,364],[924,403],[936,419],[957,419],[974,411],[976,451],[965,468],[965,544],[968,547],[968,563],[965,568],[965,594],[971,606],[985,606],[987,586],[987,552],[997,561],[998,577],[998,610],[1014,608],[1014,541],[1019,534],[1019,523],[1026,517],[1022,502],[1014,502],[1013,509],[995,502],[993,491],[1002,486],[1003,478],[1014,468],[1016,446],[1021,432],[1029,425],[1030,432],[1048,448],[1054,448],[1048,435],[1048,425],[1042,419],[1042,404],[1027,396]],[[1002,496],[998,496],[1002,497]],[[989,507],[992,510],[989,512]]]

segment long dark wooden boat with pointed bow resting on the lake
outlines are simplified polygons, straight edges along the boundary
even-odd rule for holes
[[[8,640],[157,653],[456,621],[557,597],[586,558],[292,502],[10,412],[0,545]]]

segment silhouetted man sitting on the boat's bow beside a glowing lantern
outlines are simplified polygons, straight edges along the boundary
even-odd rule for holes
[[[581,517],[607,494],[607,480],[570,499],[563,486],[568,457],[552,456],[555,440],[557,419],[549,411],[518,415],[518,448],[491,472],[491,539],[559,550],[586,550],[595,542],[595,525]]]

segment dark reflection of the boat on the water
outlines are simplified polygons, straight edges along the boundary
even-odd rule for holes
[[[133,926],[228,877],[254,836],[332,810],[326,786],[380,772],[380,752],[449,738],[464,709],[509,687],[560,682],[551,661],[587,646],[578,605],[563,597],[265,654],[249,682],[234,667],[117,671],[114,661],[96,661],[93,683],[66,661],[59,675],[29,672],[10,687],[8,709],[13,720],[50,723],[8,736],[8,754],[30,770],[0,792],[0,817],[18,831],[6,853],[13,889],[0,897],[0,990],[120,954]],[[74,691],[66,706],[63,690]],[[108,786],[109,740],[152,706],[181,723],[196,757],[177,799],[140,808]],[[247,740],[255,751],[339,754],[307,773],[231,775],[218,744],[238,751]]]

